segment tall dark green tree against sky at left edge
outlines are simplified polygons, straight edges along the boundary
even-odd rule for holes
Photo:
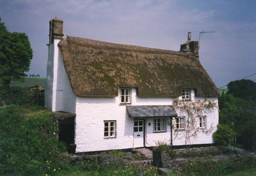
[[[29,70],[33,51],[25,33],[9,32],[0,18],[0,87],[11,81],[23,81]],[[1,90],[1,89],[0,89]]]

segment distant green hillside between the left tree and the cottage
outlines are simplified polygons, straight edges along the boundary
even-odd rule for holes
[[[25,77],[24,82],[12,81],[11,87],[21,87],[23,89],[27,89],[27,88],[30,88],[31,86],[38,85],[42,88],[45,88],[45,81],[46,81],[46,78]]]

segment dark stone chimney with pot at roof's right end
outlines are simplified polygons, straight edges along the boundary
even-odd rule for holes
[[[187,41],[180,45],[180,52],[192,53],[199,58],[198,41],[191,41],[191,32],[187,33]]]

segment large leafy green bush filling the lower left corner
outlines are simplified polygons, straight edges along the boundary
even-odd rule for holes
[[[57,134],[50,113],[25,116],[17,106],[0,108],[0,175],[53,175],[63,168]]]

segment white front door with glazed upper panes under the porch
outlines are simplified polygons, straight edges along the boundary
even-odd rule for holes
[[[144,120],[134,120],[133,137],[134,148],[144,146]]]

